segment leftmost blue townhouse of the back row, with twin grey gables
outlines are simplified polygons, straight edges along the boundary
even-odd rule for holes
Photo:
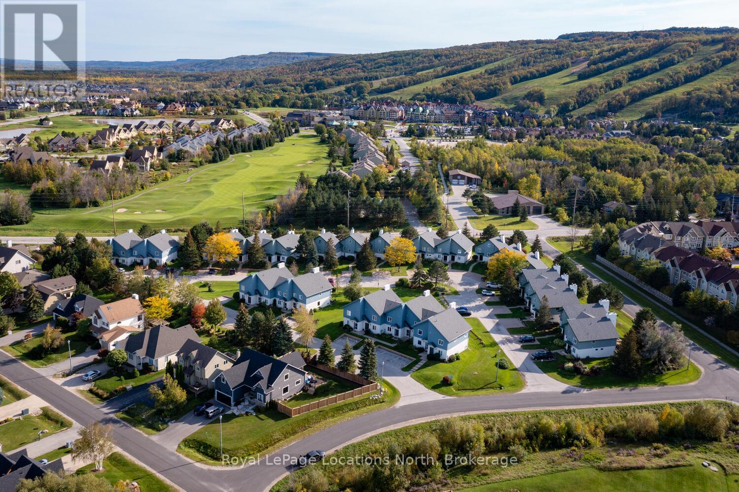
[[[162,229],[146,239],[141,239],[133,229],[127,230],[108,240],[112,247],[112,259],[115,264],[130,266],[140,264],[149,265],[151,262],[157,267],[177,259],[180,242]]]

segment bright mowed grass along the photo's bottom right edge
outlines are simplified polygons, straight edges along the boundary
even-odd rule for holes
[[[736,491],[736,476],[727,476],[721,468],[710,471],[696,460],[692,466],[661,468],[657,470],[599,471],[594,468],[560,471],[531,478],[508,480],[463,492],[503,491],[649,491],[649,492],[723,492]]]

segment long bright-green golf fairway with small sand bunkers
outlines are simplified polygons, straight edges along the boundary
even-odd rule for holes
[[[143,191],[132,199],[119,200],[115,221],[118,230],[139,228],[189,228],[209,220],[224,226],[242,219],[242,193],[247,213],[263,206],[295,185],[301,171],[317,177],[326,170],[326,147],[315,134],[301,133],[271,148],[235,154],[233,160],[197,168]],[[126,211],[122,211],[126,209]],[[27,225],[9,226],[5,233],[55,233],[58,230],[112,232],[112,210],[37,210]],[[140,213],[136,213],[140,212]]]

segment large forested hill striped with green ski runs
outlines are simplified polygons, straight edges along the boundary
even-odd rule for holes
[[[220,64],[211,64],[218,70]],[[196,65],[209,66],[205,62]],[[143,74],[138,74],[143,75]],[[556,39],[333,55],[245,71],[172,73],[147,83],[160,93],[208,98],[233,89],[234,104],[321,108],[352,100],[426,100],[548,114],[636,118],[685,106],[732,108],[739,85],[739,30],[679,28],[571,33]],[[92,78],[135,78],[121,72]],[[690,91],[690,96],[684,93]],[[730,111],[729,111],[730,112]]]

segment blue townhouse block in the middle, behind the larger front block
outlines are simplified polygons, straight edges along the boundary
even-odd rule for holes
[[[332,290],[333,286],[320,273],[319,267],[295,277],[284,263],[239,281],[239,298],[246,304],[266,304],[285,311],[327,306],[331,304]]]

